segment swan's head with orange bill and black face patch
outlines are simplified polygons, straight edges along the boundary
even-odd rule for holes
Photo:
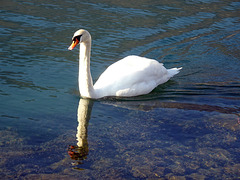
[[[79,43],[91,42],[91,35],[87,30],[79,29],[72,37],[72,44],[69,46],[68,50],[73,50]]]

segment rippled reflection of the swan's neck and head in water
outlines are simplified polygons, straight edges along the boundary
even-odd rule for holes
[[[93,101],[90,99],[80,99],[78,105],[77,119],[77,145],[69,146],[68,154],[75,160],[73,165],[82,164],[82,160],[88,155],[87,127],[91,117]]]

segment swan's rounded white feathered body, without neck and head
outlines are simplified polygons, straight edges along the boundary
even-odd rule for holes
[[[109,66],[95,83],[94,89],[100,97],[147,94],[175,73],[168,71],[156,60],[127,56]]]

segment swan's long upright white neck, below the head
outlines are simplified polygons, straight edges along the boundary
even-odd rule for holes
[[[91,40],[80,43],[78,84],[82,97],[93,98],[94,88],[90,71]]]

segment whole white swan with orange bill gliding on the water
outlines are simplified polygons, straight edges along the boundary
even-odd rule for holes
[[[91,35],[88,31],[80,29],[74,33],[72,40],[69,50],[80,44],[78,83],[80,94],[84,98],[148,94],[181,69],[167,70],[156,60],[127,56],[109,66],[93,86],[90,72]]]

